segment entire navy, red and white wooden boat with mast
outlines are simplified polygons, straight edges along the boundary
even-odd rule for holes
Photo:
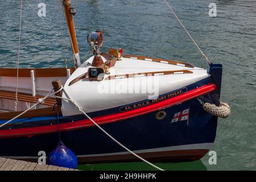
[[[138,160],[65,98],[72,98],[105,131],[149,161],[190,161],[207,154],[216,136],[217,117],[207,113],[199,100],[220,104],[222,65],[202,69],[181,61],[122,55],[121,49],[113,48],[100,53],[100,31],[88,36],[94,56],[80,64],[70,1],[63,0],[63,5],[75,67],[1,68],[0,125],[46,96],[53,80],[64,85],[63,100],[48,97],[0,127],[0,156],[36,160],[39,151],[48,154],[56,146],[60,132],[79,163]],[[157,93],[136,92],[144,84],[153,84]]]

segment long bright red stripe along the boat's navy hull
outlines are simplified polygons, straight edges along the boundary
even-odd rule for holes
[[[169,98],[167,100],[158,102],[156,104],[140,107],[138,109],[125,111],[122,113],[115,113],[115,114],[104,115],[101,117],[95,117],[92,119],[96,123],[98,123],[98,125],[103,125],[106,123],[112,123],[117,121],[123,121],[125,119],[137,117],[138,115],[151,113],[159,109],[170,107],[172,105],[177,105],[177,104],[180,104],[181,102],[191,100],[192,98],[195,98],[195,97],[203,96],[205,94],[212,92],[216,88],[217,86],[215,84],[207,84],[207,85],[201,86],[200,88],[190,90],[184,94],[181,94],[173,98]],[[89,119],[82,119],[81,121],[60,124],[60,131],[77,130],[77,129],[92,127],[92,126],[94,126],[94,124]],[[0,138],[32,137],[33,135],[56,133],[57,131],[58,131],[57,125],[28,127],[24,129],[0,130]]]

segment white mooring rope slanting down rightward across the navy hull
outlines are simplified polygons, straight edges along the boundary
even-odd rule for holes
[[[109,138],[111,138],[115,143],[117,143],[119,146],[121,146],[122,148],[124,148],[126,151],[130,152],[130,154],[133,154],[135,157],[137,157],[138,159],[141,159],[143,162],[149,164],[150,166],[160,170],[160,171],[164,171],[164,169],[160,168],[160,167],[157,167],[155,166],[154,164],[148,162],[147,160],[143,159],[141,156],[135,154],[133,151],[131,151],[129,148],[123,146],[122,143],[118,142],[118,140],[116,140],[114,137],[112,137],[112,135],[110,135],[108,132],[106,132],[104,129],[102,129],[102,127],[100,127],[95,121],[93,121],[92,118],[89,117],[88,114],[85,113],[84,110],[82,110],[82,107],[80,107],[79,105],[76,104],[75,101],[73,101],[71,99],[71,97],[69,97],[68,93],[65,91],[65,89],[63,88],[63,91],[65,92],[66,96],[68,98],[63,98],[63,97],[59,97],[59,96],[56,96],[57,98],[61,98],[63,100],[67,100],[67,101],[70,101],[73,105],[75,105],[77,107],[77,109],[79,109],[79,111],[81,111],[88,119],[90,119],[90,121],[92,121],[94,123],[94,125],[96,125],[98,127],[98,129],[100,129],[103,133],[105,133]]]

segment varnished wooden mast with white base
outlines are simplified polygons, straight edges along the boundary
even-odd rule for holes
[[[81,64],[80,62],[80,56],[79,56],[79,48],[77,45],[76,40],[76,31],[75,31],[75,25],[73,22],[73,16],[76,12],[71,7],[71,1],[70,0],[63,0],[63,6],[64,6],[64,13],[67,20],[68,25],[68,32],[69,32],[69,38],[71,42],[71,48],[72,48],[72,55],[73,55],[73,62],[75,64],[75,68],[78,68]]]

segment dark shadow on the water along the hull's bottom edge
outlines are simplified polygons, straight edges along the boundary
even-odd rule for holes
[[[207,167],[196,160],[194,162],[184,163],[154,163],[156,166],[166,171],[207,171]],[[77,167],[84,171],[151,171],[156,170],[143,162],[130,163],[104,163],[104,164],[83,164]]]

